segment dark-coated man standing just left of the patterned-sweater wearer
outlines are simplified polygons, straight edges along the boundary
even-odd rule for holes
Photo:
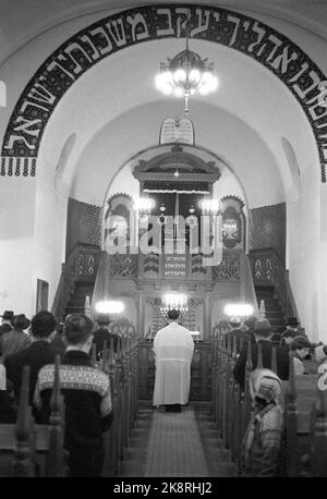
[[[20,400],[23,367],[25,365],[29,366],[29,403],[32,404],[39,369],[45,364],[52,363],[56,354],[59,353],[50,344],[56,334],[56,327],[57,320],[50,312],[38,312],[31,322],[32,343],[26,349],[5,357],[7,377],[13,384],[17,402]]]

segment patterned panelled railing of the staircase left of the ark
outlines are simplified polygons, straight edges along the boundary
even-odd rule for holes
[[[51,312],[61,319],[76,281],[94,282],[99,263],[99,248],[78,243],[62,265],[59,284],[55,294]]]

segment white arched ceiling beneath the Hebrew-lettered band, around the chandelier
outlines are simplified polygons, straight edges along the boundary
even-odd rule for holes
[[[191,99],[196,145],[227,160],[252,206],[284,200],[292,177],[281,137],[301,158],[300,170],[312,168],[315,154],[300,105],[276,76],[246,56],[203,40],[190,45],[215,62],[220,81],[214,95]],[[182,114],[183,101],[159,95],[154,85],[159,62],[182,48],[184,40],[145,42],[83,75],[51,117],[38,159],[41,169],[55,173],[65,139],[76,133],[63,182],[74,197],[101,204],[114,172],[135,153],[158,143],[165,118]]]

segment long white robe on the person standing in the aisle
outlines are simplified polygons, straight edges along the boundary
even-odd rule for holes
[[[194,343],[189,329],[171,322],[154,340],[156,380],[154,405],[186,404]]]

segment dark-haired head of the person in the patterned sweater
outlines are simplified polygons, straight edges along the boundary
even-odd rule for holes
[[[92,346],[93,329],[93,321],[86,315],[69,315],[63,327],[68,346],[88,353]]]

